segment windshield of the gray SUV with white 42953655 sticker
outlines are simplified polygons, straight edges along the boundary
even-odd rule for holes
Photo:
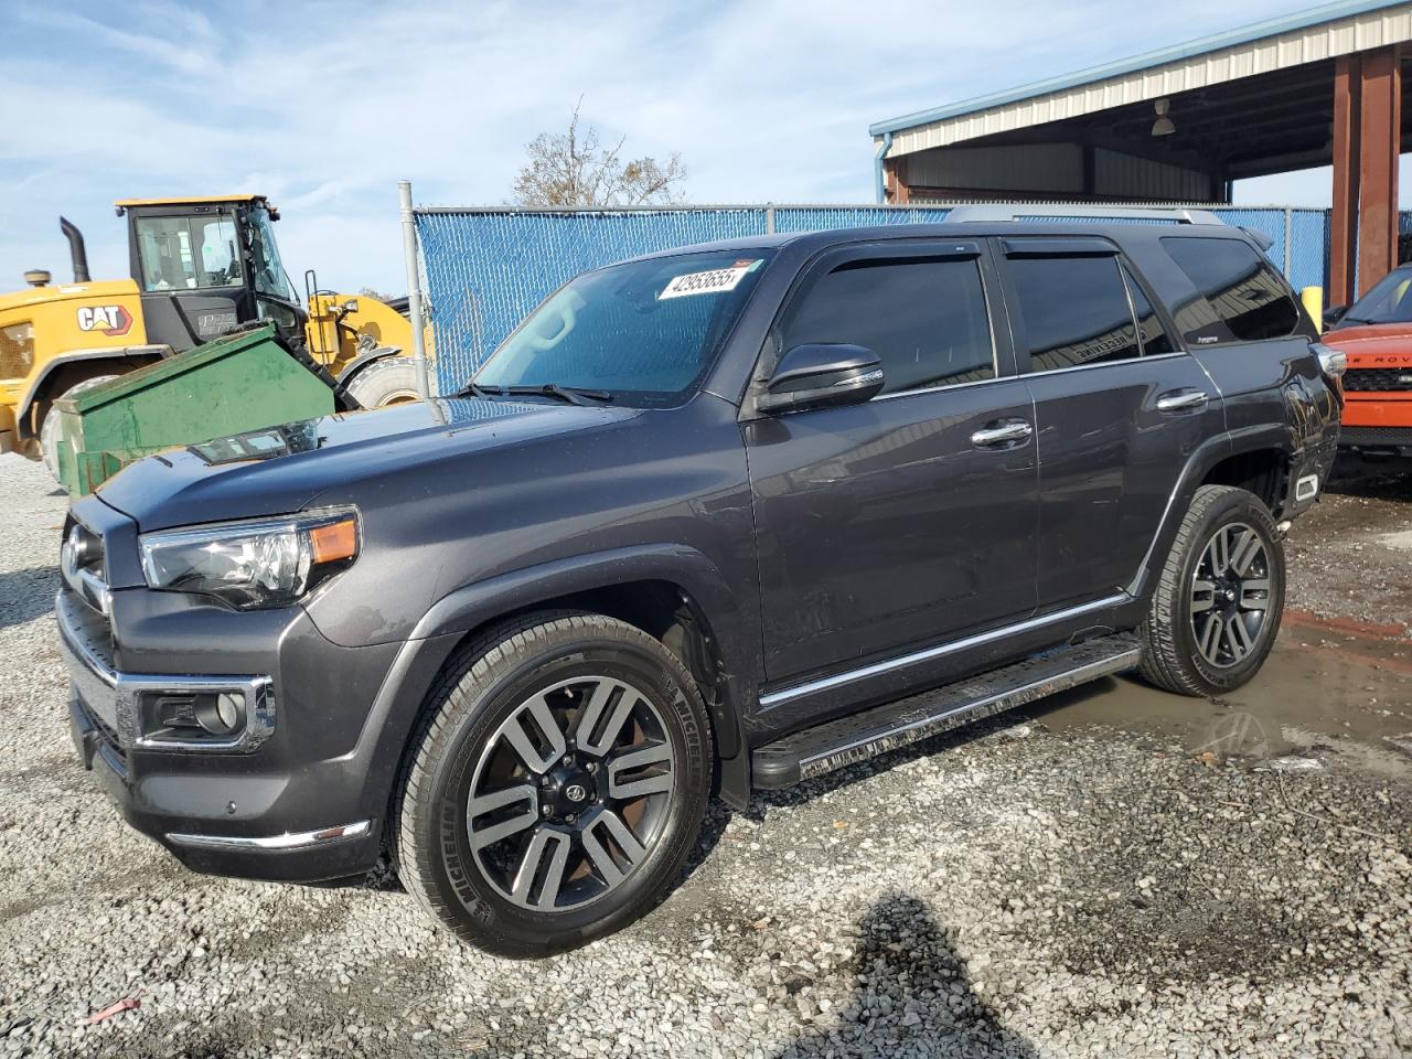
[[[600,390],[681,402],[705,377],[772,251],[681,254],[572,280],[476,373],[480,387]]]

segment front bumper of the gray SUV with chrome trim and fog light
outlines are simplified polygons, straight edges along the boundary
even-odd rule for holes
[[[114,593],[119,603],[121,596]],[[104,650],[107,626],[99,611],[65,589],[56,614],[59,651],[71,678],[75,748],[133,827],[186,867],[212,874],[312,882],[356,875],[377,863],[387,805],[381,779],[388,770],[370,770],[356,751],[329,754],[318,740],[326,738],[323,727],[345,736],[352,727],[356,738],[385,666],[361,682],[371,689],[366,700],[346,695],[330,706],[318,702],[318,695],[333,690],[336,681],[319,685],[308,671],[339,671],[340,662],[346,671],[357,652],[328,644],[302,611],[295,610],[270,640],[264,657],[271,675],[247,676],[123,672]],[[247,616],[216,620],[241,617]],[[131,624],[138,633],[144,626]],[[367,662],[376,666],[381,657]],[[277,717],[281,681],[291,690],[281,696]],[[154,743],[143,730],[141,695],[191,689],[246,695],[241,738],[215,746]],[[297,716],[287,717],[287,712]],[[309,733],[311,722],[323,722],[316,736]]]

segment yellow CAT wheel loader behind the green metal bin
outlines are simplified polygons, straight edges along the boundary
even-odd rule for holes
[[[405,306],[321,291],[312,270],[301,302],[274,240],[280,212],[263,195],[114,205],[131,278],[92,280],[83,236],[59,217],[73,282],[35,270],[27,289],[0,294],[0,452],[56,473],[56,401],[256,321],[302,345],[349,407],[417,400]]]

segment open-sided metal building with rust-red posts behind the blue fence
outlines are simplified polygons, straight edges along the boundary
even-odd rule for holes
[[[1408,41],[1412,3],[1337,0],[878,121],[878,201],[1228,202],[1231,181],[1332,164],[1347,304],[1396,264]]]

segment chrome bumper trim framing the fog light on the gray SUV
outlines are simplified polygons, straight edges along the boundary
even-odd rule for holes
[[[167,674],[123,674],[99,658],[73,627],[72,606],[61,592],[54,602],[59,624],[59,654],[69,681],[83,705],[117,734],[124,750],[165,750],[249,754],[274,734],[274,681],[268,676],[188,676]],[[234,692],[243,696],[246,723],[227,740],[152,738],[141,730],[138,706],[145,692],[196,695]]]

